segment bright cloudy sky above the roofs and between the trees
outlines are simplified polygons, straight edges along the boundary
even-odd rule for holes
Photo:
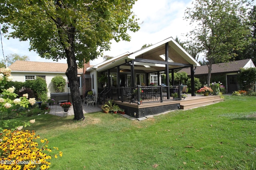
[[[128,32],[131,40],[120,41],[116,43],[111,41],[110,51],[104,51],[103,55],[116,57],[123,53],[139,50],[144,44],[156,44],[169,37],[178,37],[181,41],[186,40],[186,34],[192,29],[189,22],[184,20],[184,14],[187,7],[192,5],[192,0],[138,0],[135,2],[132,10],[139,18],[140,30],[136,33]],[[7,40],[2,36],[2,45],[4,56],[18,54],[27,55],[30,61],[54,62],[43,59],[35,51],[29,51],[28,41],[19,41],[18,39]],[[2,48],[1,48],[2,49]],[[3,59],[3,52],[0,52],[0,59]],[[102,63],[102,57],[90,61],[90,64],[96,65]],[[58,61],[66,63],[65,59]]]

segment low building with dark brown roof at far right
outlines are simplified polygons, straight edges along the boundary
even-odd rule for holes
[[[231,61],[227,63],[218,63],[212,64],[212,82],[222,82],[226,87],[226,92],[232,93],[239,89],[237,74],[240,71],[240,68],[255,68],[252,59],[244,59],[239,61]],[[179,72],[186,72],[190,75],[190,69],[183,68]],[[194,76],[199,78],[201,83],[206,82],[208,74],[208,66],[197,67],[194,73]]]

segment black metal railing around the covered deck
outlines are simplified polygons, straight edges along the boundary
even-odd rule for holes
[[[108,98],[106,98],[108,96]],[[110,88],[102,94],[105,99],[119,100],[121,102],[143,103],[164,102],[168,100],[181,100],[180,86],[137,86]],[[104,101],[106,102],[106,101]]]

